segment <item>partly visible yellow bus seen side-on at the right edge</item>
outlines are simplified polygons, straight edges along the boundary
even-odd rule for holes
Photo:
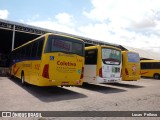
[[[141,60],[141,76],[160,78],[160,60]]]

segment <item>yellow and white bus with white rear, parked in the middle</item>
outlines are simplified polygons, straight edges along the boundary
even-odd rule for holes
[[[121,81],[121,50],[111,46],[85,47],[84,82],[113,83]]]

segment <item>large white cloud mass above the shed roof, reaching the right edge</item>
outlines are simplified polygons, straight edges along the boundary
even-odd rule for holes
[[[28,24],[110,43],[160,52],[159,0],[91,0],[93,7],[84,11],[83,20],[59,13],[45,21],[28,20]],[[83,21],[81,20],[81,21]],[[86,22],[85,22],[86,23]]]

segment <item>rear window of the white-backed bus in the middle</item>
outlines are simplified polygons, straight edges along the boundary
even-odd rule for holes
[[[119,65],[121,63],[121,51],[102,48],[102,61],[104,64]]]

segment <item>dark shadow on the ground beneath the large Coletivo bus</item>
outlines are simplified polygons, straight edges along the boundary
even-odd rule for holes
[[[17,78],[9,79],[43,102],[72,100],[87,97],[84,94],[68,90],[66,87],[38,87],[34,85],[22,86],[21,80],[18,80]]]

